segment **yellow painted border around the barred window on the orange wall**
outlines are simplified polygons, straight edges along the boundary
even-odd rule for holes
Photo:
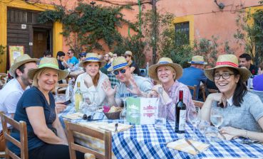
[[[192,43],[195,39],[195,29],[194,29],[194,16],[189,15],[189,16],[181,16],[181,17],[176,17],[172,23],[183,23],[189,21],[189,38],[190,38],[190,43]]]

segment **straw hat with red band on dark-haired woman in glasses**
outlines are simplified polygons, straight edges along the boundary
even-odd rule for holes
[[[240,77],[242,79],[242,82],[246,82],[247,79],[249,79],[249,77],[251,76],[251,72],[247,70],[246,67],[238,67],[237,56],[227,54],[227,55],[220,55],[217,58],[217,63],[215,67],[205,70],[206,77],[214,81],[214,78],[213,78],[214,70],[220,67],[231,67],[231,68],[234,68],[235,70],[238,70]]]

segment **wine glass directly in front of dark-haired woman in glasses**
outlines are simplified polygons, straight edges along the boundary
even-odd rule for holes
[[[223,116],[219,107],[212,107],[210,113],[210,121],[217,128],[217,134],[219,133],[219,127],[223,124]],[[219,138],[216,138],[219,139]]]

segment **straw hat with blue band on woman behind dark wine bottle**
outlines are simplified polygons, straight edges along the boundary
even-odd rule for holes
[[[182,66],[181,65],[172,62],[172,60],[168,57],[162,57],[160,58],[160,60],[158,60],[157,64],[151,65],[149,67],[149,76],[154,80],[159,80],[157,72],[156,72],[156,69],[159,66],[170,66],[173,69],[175,69],[175,72],[176,72],[175,79],[179,79],[182,76]]]

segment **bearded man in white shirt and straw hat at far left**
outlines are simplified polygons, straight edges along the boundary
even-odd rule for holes
[[[27,72],[29,69],[36,68],[36,62],[39,62],[39,60],[31,58],[27,54],[16,57],[14,60],[9,74],[15,78],[11,79],[6,83],[5,87],[0,90],[0,111],[4,111],[4,114],[14,118],[17,102],[19,102],[24,91],[29,89],[29,84],[32,84],[32,80],[27,76]],[[1,124],[0,131],[2,131]],[[0,151],[4,151],[5,143],[3,132],[0,133],[0,141]]]

